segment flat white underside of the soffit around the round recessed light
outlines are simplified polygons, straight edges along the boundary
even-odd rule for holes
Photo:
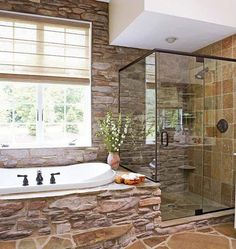
[[[144,12],[127,26],[112,45],[144,49],[171,49],[193,52],[236,33],[236,28],[187,18]],[[176,37],[173,44],[166,41]]]

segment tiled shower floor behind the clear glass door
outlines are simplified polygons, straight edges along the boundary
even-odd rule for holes
[[[195,215],[195,209],[203,207],[204,213],[228,208],[215,201],[203,198],[191,192],[166,193],[162,192],[162,220],[171,220]]]

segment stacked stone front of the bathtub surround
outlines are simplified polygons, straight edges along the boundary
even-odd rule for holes
[[[0,201],[0,248],[123,248],[155,234],[160,194],[158,185],[152,184]]]

